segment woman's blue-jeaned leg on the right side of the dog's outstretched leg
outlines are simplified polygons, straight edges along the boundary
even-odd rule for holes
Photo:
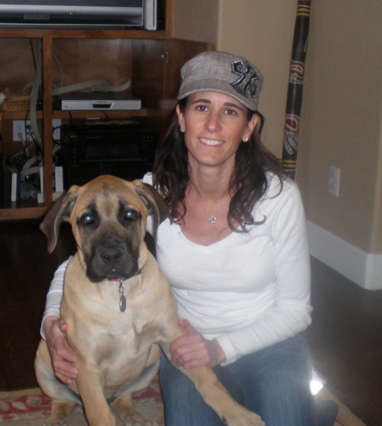
[[[266,425],[316,424],[305,339],[287,339],[235,364],[245,406],[261,415]]]

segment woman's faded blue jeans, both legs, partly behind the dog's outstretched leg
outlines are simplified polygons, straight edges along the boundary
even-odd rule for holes
[[[213,368],[238,403],[262,417],[266,426],[316,426],[309,391],[310,354],[300,335]],[[193,383],[162,355],[159,383],[166,426],[223,426]]]

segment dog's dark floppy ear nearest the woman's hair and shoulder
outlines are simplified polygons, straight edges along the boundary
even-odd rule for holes
[[[135,186],[137,195],[140,196],[140,199],[147,207],[149,214],[152,214],[154,229],[157,230],[159,224],[169,216],[169,207],[167,207],[159,192],[152,185],[144,183],[139,179],[134,180],[132,183]]]

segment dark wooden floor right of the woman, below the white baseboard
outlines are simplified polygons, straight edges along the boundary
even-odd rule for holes
[[[328,388],[368,426],[382,426],[382,290],[364,290],[312,258],[305,333]]]

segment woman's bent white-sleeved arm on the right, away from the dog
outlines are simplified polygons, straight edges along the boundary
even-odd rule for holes
[[[227,364],[245,354],[264,349],[306,329],[310,322],[310,257],[305,213],[298,187],[285,182],[283,192],[269,200],[276,293],[274,307],[254,323],[217,340]]]

